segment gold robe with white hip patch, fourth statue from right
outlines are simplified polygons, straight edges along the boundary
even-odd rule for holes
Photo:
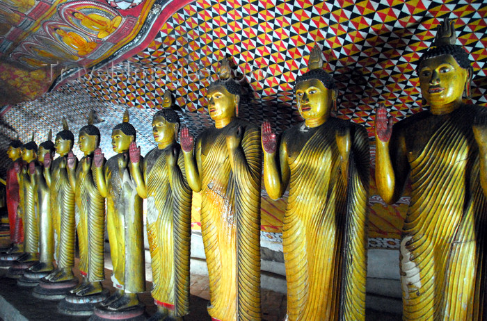
[[[179,146],[177,146],[179,149]],[[176,315],[189,313],[189,251],[192,191],[179,151],[170,186],[166,154],[173,147],[152,149],[144,159],[147,186],[147,238],[152,258],[152,297],[173,306]]]

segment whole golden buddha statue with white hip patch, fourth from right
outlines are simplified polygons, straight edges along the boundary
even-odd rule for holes
[[[131,175],[138,195],[147,199],[147,238],[152,258],[152,297],[157,313],[150,320],[182,320],[189,313],[191,197],[184,158],[176,140],[179,116],[169,108],[152,119],[157,147],[140,165],[141,149],[130,145]]]

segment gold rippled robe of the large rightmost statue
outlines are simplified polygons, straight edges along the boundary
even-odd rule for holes
[[[487,201],[472,120],[480,106],[429,111],[394,125],[412,183],[401,240],[404,320],[483,320]]]

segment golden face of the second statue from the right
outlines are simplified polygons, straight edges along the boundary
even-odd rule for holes
[[[296,85],[298,110],[305,120],[328,117],[336,90],[325,87],[318,79],[308,79]]]

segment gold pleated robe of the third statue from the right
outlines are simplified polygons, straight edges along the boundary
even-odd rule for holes
[[[244,129],[245,159],[230,165],[226,135]],[[201,155],[201,230],[209,271],[209,315],[260,320],[260,130],[238,118],[198,136]],[[238,286],[237,286],[238,285]]]

